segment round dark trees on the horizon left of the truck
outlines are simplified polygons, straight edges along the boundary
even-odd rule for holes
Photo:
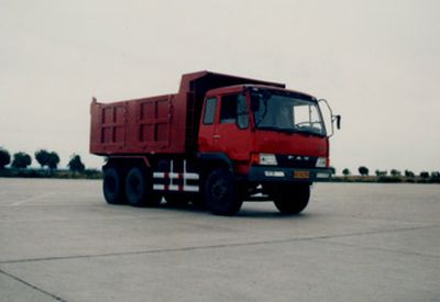
[[[40,149],[34,153],[35,160],[40,164],[42,169],[47,167],[51,171],[56,170],[59,165],[59,156],[56,152],[48,152]],[[11,157],[10,153],[0,147],[0,169],[4,169],[8,165],[15,169],[26,169],[32,164],[32,157],[24,152],[14,153]],[[77,154],[70,156],[67,164],[70,171],[82,172],[86,169],[81,157]]]

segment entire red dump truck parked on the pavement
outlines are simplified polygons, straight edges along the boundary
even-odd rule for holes
[[[107,157],[103,195],[134,206],[205,204],[232,215],[272,200],[286,214],[331,176],[319,101],[284,83],[199,71],[175,94],[91,102],[90,153]],[[327,104],[324,101],[323,103]],[[327,104],[328,105],[328,104]]]

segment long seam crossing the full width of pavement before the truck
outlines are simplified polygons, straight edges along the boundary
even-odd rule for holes
[[[351,236],[406,232],[406,231],[415,231],[415,230],[422,230],[422,228],[430,228],[430,227],[438,227],[438,226],[439,226],[438,224],[431,224],[431,225],[425,225],[425,226],[402,227],[402,228],[394,228],[394,230],[386,230],[386,231],[370,231],[370,232],[348,233],[348,234],[339,234],[339,235],[322,235],[322,236],[315,236],[315,237],[287,238],[287,239],[277,239],[277,241],[231,243],[231,244],[221,244],[221,245],[187,246],[187,247],[179,247],[179,248],[161,248],[161,249],[108,253],[108,254],[96,254],[96,255],[77,255],[77,256],[59,256],[59,257],[47,257],[47,258],[4,260],[4,261],[0,261],[0,265],[84,259],[84,258],[103,258],[103,257],[114,257],[114,256],[133,256],[133,255],[161,254],[161,253],[188,251],[188,250],[202,250],[202,249],[228,248],[228,247],[240,247],[240,246],[257,246],[257,245],[265,245],[265,244],[283,244],[283,243],[290,243],[290,242],[322,241],[322,239],[343,238],[343,237],[351,237]]]

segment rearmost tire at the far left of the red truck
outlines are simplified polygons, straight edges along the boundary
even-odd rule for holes
[[[102,191],[107,203],[127,203],[124,179],[121,169],[110,167],[103,170]]]

